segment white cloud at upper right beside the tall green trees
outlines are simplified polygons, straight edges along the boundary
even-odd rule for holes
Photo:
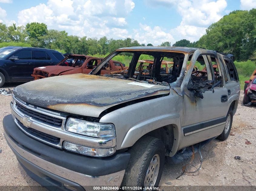
[[[222,13],[227,7],[226,0],[146,0],[146,2],[152,6],[175,8],[181,15],[179,26],[168,32],[165,31],[166,35],[172,37],[173,40],[168,40],[172,44],[181,39],[192,42],[198,40],[205,34],[205,29],[209,25],[222,18]],[[158,44],[161,42],[164,41],[159,39]]]

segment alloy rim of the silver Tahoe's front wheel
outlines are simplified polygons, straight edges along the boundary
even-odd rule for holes
[[[150,187],[150,186],[152,187],[155,185],[156,179],[158,177],[159,167],[160,167],[160,157],[158,154],[155,154],[148,166],[148,170],[144,180],[144,190],[147,190],[145,189],[145,187]]]

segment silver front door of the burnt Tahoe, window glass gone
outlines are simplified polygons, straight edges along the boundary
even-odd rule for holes
[[[206,138],[220,135],[228,113],[228,91],[223,86],[224,76],[221,78],[222,72],[215,52],[202,49],[195,51],[190,62],[192,67],[189,68],[193,68],[195,64],[198,66],[198,71],[188,70],[185,78],[192,81],[201,80],[201,82],[214,81],[213,84],[218,82],[218,85],[213,88],[214,91],[202,87],[200,90],[202,90],[203,99],[197,96],[195,102],[191,99],[193,94],[190,96],[185,94],[181,121],[184,145],[192,145]],[[185,81],[183,82],[186,83]],[[185,84],[186,88],[188,83]],[[187,90],[187,92],[192,93],[194,90]],[[180,145],[180,148],[184,145]]]

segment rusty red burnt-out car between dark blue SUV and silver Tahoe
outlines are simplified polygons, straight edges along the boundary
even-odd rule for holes
[[[95,68],[102,58],[96,58],[80,54],[66,54],[65,59],[59,62],[55,66],[44,66],[34,68],[32,76],[35,80],[41,78],[48,78],[58,75],[68,75],[68,74],[88,74]],[[121,62],[110,60],[101,69],[101,75],[109,74],[113,71],[125,70],[127,67]]]

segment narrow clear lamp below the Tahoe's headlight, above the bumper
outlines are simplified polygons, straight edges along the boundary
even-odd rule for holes
[[[64,142],[63,148],[68,151],[76,152],[79,154],[85,154],[88,156],[94,156],[94,157],[110,156],[110,155],[114,154],[115,150],[116,150],[115,147],[113,147],[113,148],[90,148],[90,147],[86,147],[83,145],[77,145],[75,143],[70,143],[67,141]]]

